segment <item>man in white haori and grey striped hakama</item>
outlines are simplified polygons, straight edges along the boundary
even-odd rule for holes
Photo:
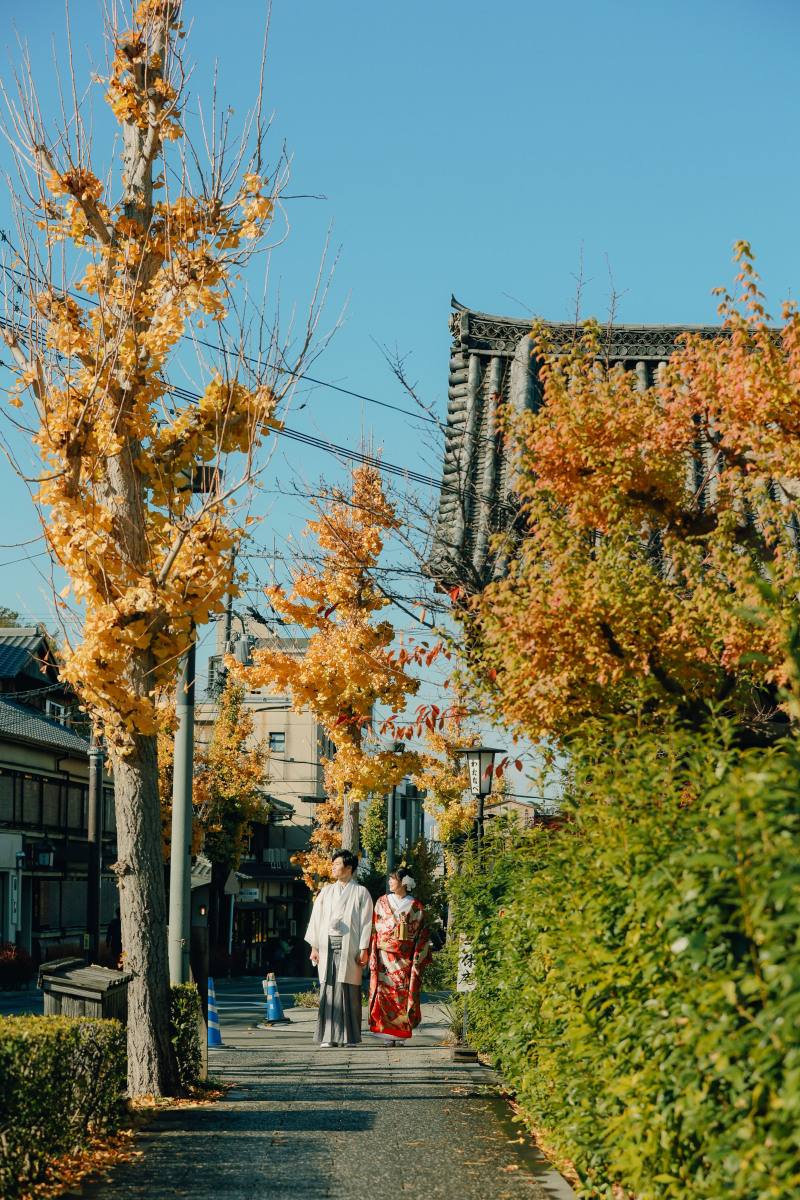
[[[353,878],[359,859],[337,850],[333,882],[317,899],[306,930],[311,961],[319,971],[319,1010],[314,1042],[324,1046],[361,1040],[361,976],[369,961],[372,896]]]

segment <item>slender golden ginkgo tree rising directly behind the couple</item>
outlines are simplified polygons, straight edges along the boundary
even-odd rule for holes
[[[439,650],[403,646],[392,622],[380,617],[391,599],[377,586],[375,568],[398,518],[378,467],[355,467],[350,487],[332,488],[317,500],[317,510],[305,529],[315,541],[317,560],[309,553],[297,563],[289,592],[266,588],[278,618],[305,630],[307,646],[299,653],[276,636],[253,650],[252,666],[228,660],[249,688],[288,695],[296,712],[312,713],[336,748],[325,764],[327,803],[302,856],[314,889],[327,877],[333,846],[357,852],[360,803],[385,793],[416,766],[415,754],[383,745],[373,715],[377,706],[399,715],[420,686],[409,665]]]

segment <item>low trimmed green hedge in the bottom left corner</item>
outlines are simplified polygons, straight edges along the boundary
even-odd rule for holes
[[[125,1030],[70,1016],[0,1018],[0,1195],[35,1181],[48,1158],[125,1121]]]

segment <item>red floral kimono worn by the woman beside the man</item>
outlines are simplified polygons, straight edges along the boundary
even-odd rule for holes
[[[380,896],[372,918],[369,953],[369,1030],[389,1038],[410,1038],[421,1020],[420,984],[431,942],[419,900],[397,913]]]

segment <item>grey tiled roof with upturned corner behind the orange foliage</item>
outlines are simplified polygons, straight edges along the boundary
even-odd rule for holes
[[[462,586],[475,594],[503,574],[503,558],[492,552],[492,536],[513,533],[519,524],[513,464],[497,432],[498,413],[541,403],[541,385],[531,359],[531,322],[495,317],[451,300],[450,386],[441,490],[429,570],[444,589]],[[554,347],[569,346],[571,322],[547,322]],[[612,325],[607,358],[639,376],[643,386],[675,349],[681,332],[718,337],[718,325]],[[706,469],[703,451],[696,470]]]

